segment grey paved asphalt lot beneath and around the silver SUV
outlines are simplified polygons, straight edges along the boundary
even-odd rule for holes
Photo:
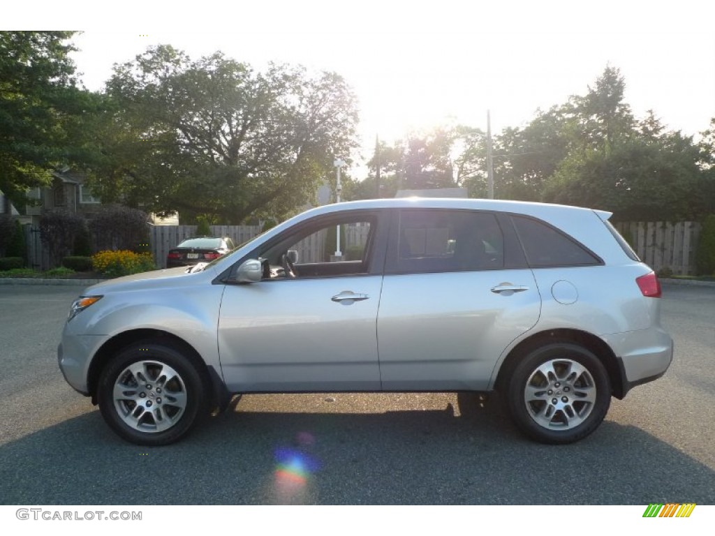
[[[252,395],[171,447],[119,440],[61,377],[79,287],[0,286],[0,504],[715,503],[715,288],[664,288],[676,359],[563,447],[494,399]]]

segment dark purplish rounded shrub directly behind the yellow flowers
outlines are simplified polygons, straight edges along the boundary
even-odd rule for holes
[[[106,207],[92,217],[89,229],[97,249],[142,252],[149,244],[147,214],[119,205]]]

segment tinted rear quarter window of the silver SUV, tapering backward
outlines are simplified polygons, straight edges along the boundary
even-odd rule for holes
[[[545,222],[518,216],[512,220],[532,268],[602,264],[586,247]]]

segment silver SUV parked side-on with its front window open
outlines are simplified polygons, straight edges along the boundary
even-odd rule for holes
[[[661,288],[610,214],[384,199],[300,214],[209,264],[94,285],[59,345],[121,437],[179,440],[235,394],[490,392],[568,443],[673,355]]]

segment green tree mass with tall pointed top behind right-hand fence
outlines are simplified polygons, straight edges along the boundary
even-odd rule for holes
[[[636,121],[625,81],[607,67],[586,96],[561,106],[563,158],[543,182],[548,202],[596,207],[621,220],[699,219],[708,212],[706,151],[649,111]]]

